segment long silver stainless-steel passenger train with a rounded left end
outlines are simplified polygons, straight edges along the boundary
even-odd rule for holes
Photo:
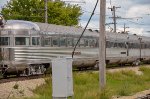
[[[0,28],[0,67],[4,77],[43,74],[58,57],[71,57],[82,28],[8,20]],[[94,67],[98,61],[99,31],[86,30],[75,51],[73,66]],[[150,38],[106,33],[106,63],[150,60]]]

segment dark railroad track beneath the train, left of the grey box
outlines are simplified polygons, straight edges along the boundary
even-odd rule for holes
[[[44,75],[32,75],[32,76],[1,78],[0,84],[7,83],[7,82],[13,82],[13,81],[24,81],[24,80],[30,80],[30,79],[37,79],[37,78],[43,78],[43,77],[44,77]]]

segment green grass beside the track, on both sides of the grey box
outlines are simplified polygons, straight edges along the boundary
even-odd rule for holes
[[[150,89],[150,68],[141,67],[143,75],[133,71],[107,73],[107,88],[99,90],[98,72],[74,72],[74,99],[110,99],[112,96],[128,96],[136,92]],[[52,99],[52,80],[37,87],[31,99]]]

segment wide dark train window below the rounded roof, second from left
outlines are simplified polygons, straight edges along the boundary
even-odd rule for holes
[[[15,37],[15,44],[16,45],[30,45],[30,38],[29,37]]]

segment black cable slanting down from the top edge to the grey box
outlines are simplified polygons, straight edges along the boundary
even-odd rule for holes
[[[91,21],[91,19],[92,19],[92,16],[94,15],[94,12],[95,12],[96,7],[97,7],[97,4],[98,4],[98,1],[99,1],[99,0],[96,1],[96,4],[95,4],[94,9],[93,9],[93,11],[92,11],[92,13],[91,13],[91,16],[90,16],[90,18],[89,18],[89,20],[88,20],[88,22],[87,22],[87,24],[86,24],[84,30],[82,31],[82,33],[81,33],[81,35],[80,35],[80,37],[79,37],[79,39],[78,39],[78,41],[77,41],[77,43],[76,43],[74,49],[73,49],[72,58],[73,58],[73,56],[74,56],[76,47],[77,47],[78,43],[80,42],[80,39],[82,38],[83,34],[85,33],[85,30],[86,30],[87,26],[89,25],[89,23],[90,23],[90,21]]]

